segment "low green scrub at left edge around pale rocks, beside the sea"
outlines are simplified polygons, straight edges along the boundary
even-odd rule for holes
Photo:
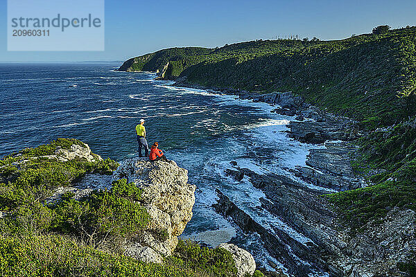
[[[1,159],[0,210],[10,211],[35,200],[42,202],[58,186],[70,186],[87,173],[111,175],[119,166],[111,159],[61,162],[42,157],[54,154],[58,147],[71,148],[72,144],[84,145],[75,139],[57,139],[49,145],[28,148]]]

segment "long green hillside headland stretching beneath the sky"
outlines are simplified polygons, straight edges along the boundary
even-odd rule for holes
[[[156,71],[206,87],[293,91],[313,105],[369,123],[416,114],[416,27],[336,41],[259,40],[221,48],[168,48],[120,71]]]

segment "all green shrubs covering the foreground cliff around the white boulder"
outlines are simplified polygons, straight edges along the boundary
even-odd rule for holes
[[[162,264],[124,256],[121,243],[151,223],[141,190],[120,179],[84,196],[65,193],[85,175],[112,175],[119,166],[93,153],[89,161],[62,159],[77,147],[89,149],[57,139],[0,160],[1,276],[236,276],[229,251],[195,242],[180,241]]]

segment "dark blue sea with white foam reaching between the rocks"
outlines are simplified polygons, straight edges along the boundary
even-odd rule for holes
[[[225,177],[229,161],[257,172],[303,165],[309,145],[288,139],[292,118],[272,107],[155,81],[154,73],[114,71],[119,64],[0,64],[0,156],[58,137],[76,138],[116,161],[137,155],[135,125],[146,120],[148,143],[189,170],[197,186],[184,236],[211,244],[234,237],[266,264],[255,235],[245,236],[214,212],[215,188],[266,226],[308,239],[259,208],[260,190]],[[276,261],[275,261],[276,262]]]

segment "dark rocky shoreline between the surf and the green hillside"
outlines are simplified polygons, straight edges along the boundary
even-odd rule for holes
[[[174,85],[207,89],[183,80]],[[363,227],[366,233],[357,234],[341,222],[334,207],[322,197],[327,193],[370,185],[363,177],[356,176],[352,168],[352,159],[358,150],[354,140],[364,135],[354,120],[308,105],[291,92],[257,94],[209,89],[276,105],[273,112],[294,118],[288,124],[288,136],[303,143],[320,145],[310,150],[306,166],[288,169],[300,181],[271,173],[259,175],[248,168],[240,168],[235,161],[231,161],[231,168],[225,172],[236,181],[248,178],[266,195],[260,199],[261,208],[277,215],[311,242],[301,243],[283,230],[267,229],[219,190],[218,202],[214,205],[218,213],[243,233],[258,233],[269,253],[293,276],[316,272],[348,277],[407,276],[397,265],[408,261],[405,256],[410,257],[416,249],[415,224],[406,224],[415,220],[413,211],[395,208],[381,220],[384,223],[370,222]]]

